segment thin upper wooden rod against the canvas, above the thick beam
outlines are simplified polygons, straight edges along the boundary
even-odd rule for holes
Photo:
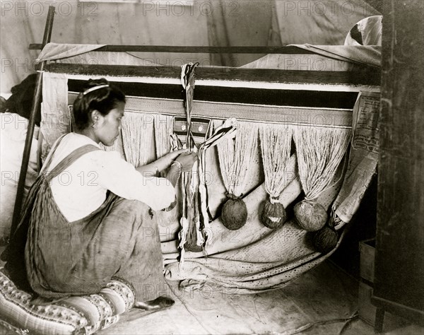
[[[30,50],[40,50],[40,44],[30,44]],[[314,54],[293,46],[283,47],[184,47],[169,45],[105,45],[94,51],[109,52],[175,52],[189,54]]]

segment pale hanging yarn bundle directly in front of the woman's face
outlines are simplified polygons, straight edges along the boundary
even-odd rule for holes
[[[139,167],[151,158],[153,115],[126,112],[122,119],[122,141],[126,161]]]

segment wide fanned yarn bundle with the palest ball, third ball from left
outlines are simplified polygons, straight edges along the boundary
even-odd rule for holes
[[[324,227],[326,209],[317,199],[336,174],[348,148],[351,129],[297,127],[293,139],[298,155],[300,182],[305,200],[295,205],[295,218],[301,228],[316,231]]]

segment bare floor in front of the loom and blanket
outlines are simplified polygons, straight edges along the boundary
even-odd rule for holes
[[[99,334],[374,334],[358,315],[358,281],[331,261],[284,288],[259,294],[221,292],[213,286],[179,290],[175,305],[147,315],[131,310]],[[351,320],[347,320],[351,318]],[[424,334],[424,329],[387,315],[386,334]]]

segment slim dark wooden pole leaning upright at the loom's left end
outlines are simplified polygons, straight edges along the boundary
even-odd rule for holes
[[[54,19],[54,6],[49,6],[49,13],[47,14],[47,21],[45,25],[45,33],[42,39],[42,47],[45,47],[50,38],[52,37],[53,30],[53,19]],[[28,122],[28,129],[25,138],[25,147],[23,148],[22,164],[20,165],[18,190],[16,192],[15,207],[13,208],[13,218],[11,225],[10,236],[15,233],[16,227],[20,221],[20,209],[22,207],[23,192],[25,188],[25,179],[28,171],[28,163],[30,161],[31,144],[33,143],[34,127],[35,127],[35,115],[37,115],[40,109],[41,102],[41,88],[42,88],[42,71],[44,69],[45,62],[42,61],[39,68],[37,69],[37,81],[35,83],[35,92],[33,99],[33,106],[31,107],[30,120]]]

